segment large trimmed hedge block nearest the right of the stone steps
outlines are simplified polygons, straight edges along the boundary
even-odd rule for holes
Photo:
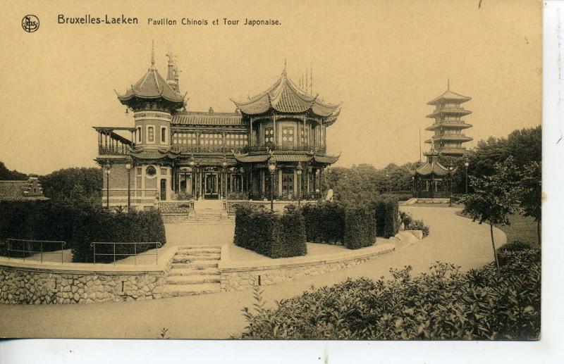
[[[287,206],[283,215],[266,210],[262,205],[238,206],[233,242],[270,258],[307,253],[304,220],[293,206]]]

